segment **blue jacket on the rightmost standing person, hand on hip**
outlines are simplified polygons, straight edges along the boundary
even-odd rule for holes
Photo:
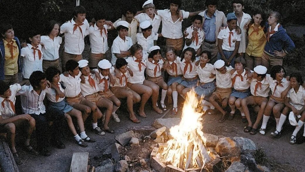
[[[266,31],[269,29],[267,24],[265,27]],[[267,41],[264,52],[274,56],[273,51],[282,51],[284,50],[286,54],[291,53],[295,49],[295,45],[291,38],[287,35],[286,30],[282,25],[278,28],[278,31],[270,36],[269,42]]]

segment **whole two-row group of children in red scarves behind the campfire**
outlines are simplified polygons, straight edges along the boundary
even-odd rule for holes
[[[86,147],[86,142],[95,142],[87,136],[84,127],[90,114],[92,130],[96,134],[115,133],[108,124],[111,117],[120,122],[116,114],[121,106],[120,99],[126,99],[129,119],[140,123],[136,114],[146,117],[145,104],[149,98],[152,109],[162,114],[167,110],[167,97],[167,105],[172,104],[171,114],[175,115],[178,113],[178,95],[185,97],[192,89],[200,100],[198,110],[216,108],[221,113],[219,122],[224,122],[232,120],[237,109],[242,121],[248,123],[244,131],[251,135],[257,132],[265,135],[273,112],[277,126],[271,135],[279,137],[290,113],[289,121],[296,125],[296,129],[289,143],[295,144],[296,133],[305,120],[302,76],[294,73],[286,78],[285,69],[282,65],[274,65],[277,63],[273,63],[272,58],[269,58],[272,68],[267,69],[258,63],[248,66],[248,60],[257,57],[251,56],[253,52],[249,54],[250,50],[246,47],[252,47],[251,51],[263,50],[261,46],[265,46],[266,40],[255,45],[249,42],[246,46],[246,28],[250,26],[251,16],[242,12],[242,1],[232,2],[235,13],[229,13],[227,17],[216,9],[216,0],[207,0],[205,5],[205,11],[185,12],[180,10],[180,0],[170,0],[169,9],[155,10],[152,0],[147,0],[142,6],[143,11],[137,13],[127,9],[122,18],[114,23],[106,21],[105,15],[97,12],[94,23],[90,24],[84,7],[77,6],[70,21],[61,26],[56,21],[50,21],[45,36],[40,37],[40,33],[30,30],[29,43],[22,49],[12,26],[2,25],[4,38],[0,42],[0,54],[4,65],[0,67],[0,132],[7,133],[16,162],[23,163],[15,148],[15,130],[19,126],[27,128],[25,150],[33,155],[49,156],[49,137],[57,148],[65,148],[61,141],[65,121],[76,143]],[[257,15],[253,18],[257,19]],[[193,16],[192,25],[182,32],[182,20],[190,16]],[[259,34],[261,28],[256,28],[260,25],[257,25],[257,20],[250,26],[254,27],[254,31],[249,33],[249,37],[255,32],[253,36],[273,39],[272,35],[277,32],[269,33],[270,28],[267,38],[265,34]],[[161,21],[162,31],[158,33]],[[113,41],[112,58],[108,61],[105,59],[109,49],[107,38],[108,31],[112,29],[117,30],[118,36]],[[65,38],[62,66],[59,63],[60,33]],[[82,57],[84,37],[87,35],[91,45],[88,61]],[[166,39],[165,52],[156,46],[159,37]],[[274,51],[274,54],[282,56],[292,48],[285,52]],[[22,62],[19,62],[20,59]],[[20,64],[23,81],[17,84]],[[163,78],[163,73],[167,79]],[[30,84],[26,84],[27,80]],[[21,96],[24,113],[21,115],[16,115],[15,111],[17,95]],[[133,107],[135,103],[139,103],[137,113]],[[254,124],[248,105],[259,107]],[[102,108],[106,109],[104,114],[100,110]],[[103,125],[98,125],[99,120]],[[74,123],[77,125],[74,126]],[[35,127],[38,151],[30,146]],[[46,133],[49,137],[45,137]]]

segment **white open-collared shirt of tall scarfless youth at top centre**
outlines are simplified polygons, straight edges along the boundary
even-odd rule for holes
[[[189,16],[189,12],[181,10],[183,18],[186,19]],[[179,39],[182,38],[182,21],[177,19],[173,21],[170,13],[170,9],[163,9],[157,11],[158,15],[162,18],[162,36],[170,39]]]

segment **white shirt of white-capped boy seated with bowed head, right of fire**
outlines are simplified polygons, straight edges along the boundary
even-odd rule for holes
[[[226,67],[227,72],[222,74],[219,71],[215,70],[216,74],[216,86],[218,88],[231,88],[232,87],[232,80],[231,80],[231,70],[233,69],[232,66]]]

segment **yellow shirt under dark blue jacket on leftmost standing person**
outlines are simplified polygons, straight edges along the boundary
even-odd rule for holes
[[[4,48],[5,48],[5,61],[4,61],[4,74],[5,75],[14,75],[18,73],[18,56],[19,49],[15,39],[12,39],[13,42],[13,58],[11,55],[10,47],[7,45],[8,42],[3,39]],[[15,48],[16,47],[16,48]]]

